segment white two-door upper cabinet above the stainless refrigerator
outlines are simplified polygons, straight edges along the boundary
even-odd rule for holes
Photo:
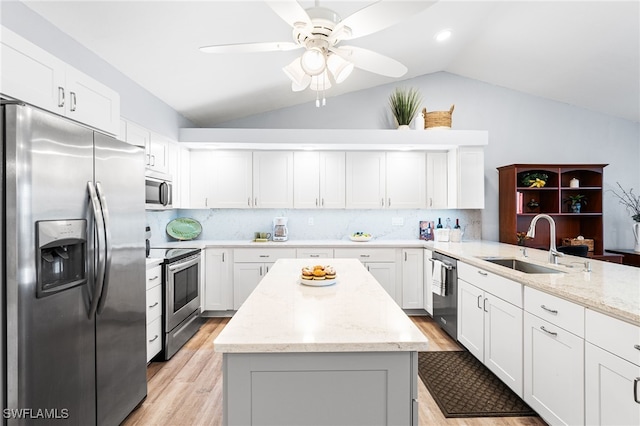
[[[0,93],[118,135],[120,96],[2,27]]]

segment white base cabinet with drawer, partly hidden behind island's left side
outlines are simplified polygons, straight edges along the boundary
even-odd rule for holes
[[[238,310],[278,259],[295,259],[295,248],[246,248],[233,251],[233,309]]]

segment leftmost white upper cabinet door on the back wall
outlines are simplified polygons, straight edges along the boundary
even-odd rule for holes
[[[189,207],[192,209],[206,209],[214,205],[214,156],[212,151],[191,151],[189,155]]]

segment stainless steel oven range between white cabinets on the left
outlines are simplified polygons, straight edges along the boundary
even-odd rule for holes
[[[164,285],[164,359],[170,359],[201,325],[200,249],[151,249],[150,257],[161,257]]]

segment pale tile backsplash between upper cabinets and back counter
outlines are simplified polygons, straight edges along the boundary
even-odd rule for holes
[[[151,244],[174,241],[166,226],[177,217],[189,217],[202,224],[198,240],[252,240],[255,232],[272,232],[273,218],[289,218],[289,240],[341,240],[357,231],[376,239],[419,238],[419,222],[431,220],[451,226],[459,219],[463,240],[479,240],[482,235],[481,210],[347,210],[347,209],[176,209],[147,211]],[[312,223],[312,224],[311,224]]]

